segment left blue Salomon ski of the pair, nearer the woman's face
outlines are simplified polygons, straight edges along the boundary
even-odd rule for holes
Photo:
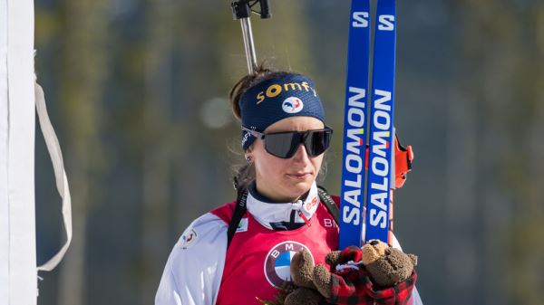
[[[340,203],[340,249],[361,245],[364,223],[364,164],[368,72],[370,59],[370,1],[353,0],[350,14],[345,86],[344,147]]]

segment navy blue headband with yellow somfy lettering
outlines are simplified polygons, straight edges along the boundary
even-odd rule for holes
[[[299,74],[286,74],[257,82],[239,100],[242,126],[263,132],[280,119],[314,117],[325,124],[325,111],[314,82]],[[255,137],[242,131],[242,148]]]

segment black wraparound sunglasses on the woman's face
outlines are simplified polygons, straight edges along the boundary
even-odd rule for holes
[[[313,129],[306,131],[284,131],[262,133],[255,130],[242,127],[255,138],[260,138],[265,142],[265,150],[268,154],[276,157],[288,159],[296,153],[296,148],[303,144],[306,153],[310,157],[316,157],[323,154],[326,148],[331,144],[333,129]]]

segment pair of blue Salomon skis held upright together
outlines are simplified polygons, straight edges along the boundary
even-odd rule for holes
[[[378,0],[375,24],[372,101],[369,104],[370,1],[353,0],[345,86],[340,249],[348,245],[360,246],[363,240],[370,239],[390,242],[390,189],[394,186],[391,174],[394,171],[394,0]],[[365,157],[367,137],[368,162]],[[364,179],[366,164],[367,180]]]

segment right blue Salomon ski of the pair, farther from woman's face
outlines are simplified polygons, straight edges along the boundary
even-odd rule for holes
[[[390,190],[393,169],[395,64],[395,0],[378,0],[374,28],[372,104],[369,119],[369,161],[366,181],[364,241],[389,241]]]

